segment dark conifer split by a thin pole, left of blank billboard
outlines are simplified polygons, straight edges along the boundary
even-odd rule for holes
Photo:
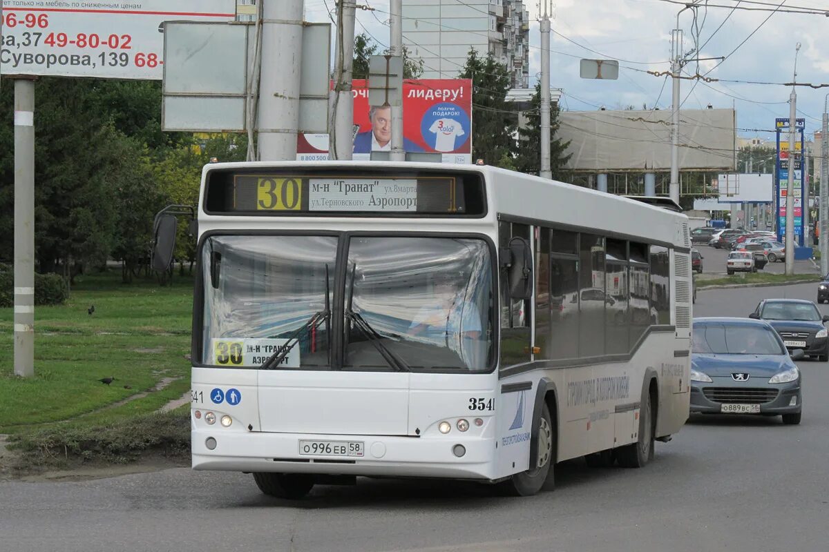
[[[537,175],[541,170],[541,86],[536,84],[536,94],[530,100],[531,109],[524,113],[526,123],[518,127],[518,155],[516,170]],[[570,155],[566,153],[570,142],[562,143],[555,137],[559,131],[559,105],[550,105],[550,170],[555,180],[561,180],[562,171]]]

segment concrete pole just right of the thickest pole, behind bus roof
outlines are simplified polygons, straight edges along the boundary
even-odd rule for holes
[[[328,132],[330,137],[328,158],[332,160],[351,160],[351,154],[354,151],[354,99],[351,97],[351,66],[354,64],[355,10],[354,0],[337,0],[334,98],[332,99],[331,130]]]

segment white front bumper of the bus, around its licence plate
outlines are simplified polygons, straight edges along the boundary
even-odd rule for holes
[[[209,439],[214,439],[215,443]],[[300,441],[363,443],[362,457],[299,454]],[[208,447],[208,443],[213,446]],[[456,445],[463,446],[463,455]],[[493,479],[495,439],[192,430],[192,468],[234,472]]]

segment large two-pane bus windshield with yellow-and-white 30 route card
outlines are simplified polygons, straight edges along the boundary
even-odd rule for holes
[[[341,240],[347,256],[341,248],[338,258]],[[213,236],[200,266],[203,364],[492,368],[492,259],[482,239]]]

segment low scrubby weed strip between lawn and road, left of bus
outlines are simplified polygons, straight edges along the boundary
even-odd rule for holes
[[[66,468],[84,463],[131,463],[145,455],[185,460],[190,454],[190,406],[107,425],[58,424],[11,435],[12,469]]]

